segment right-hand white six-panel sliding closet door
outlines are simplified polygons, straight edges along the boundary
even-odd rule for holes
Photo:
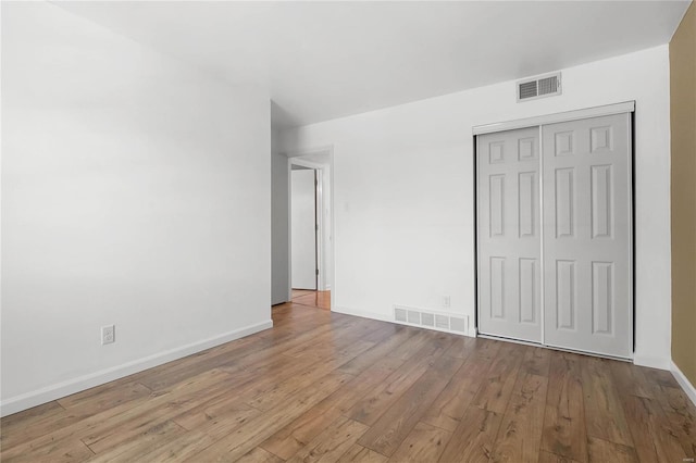
[[[629,114],[542,127],[545,343],[633,350]]]

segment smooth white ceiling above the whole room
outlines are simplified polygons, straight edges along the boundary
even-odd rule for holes
[[[667,43],[688,1],[58,2],[232,85],[276,128]]]

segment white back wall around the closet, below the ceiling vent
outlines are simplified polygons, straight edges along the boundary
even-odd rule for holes
[[[507,82],[282,135],[334,146],[335,308],[391,320],[393,304],[474,315],[472,127],[636,100],[636,363],[670,359],[668,47],[563,70],[563,95],[517,103]],[[473,318],[472,318],[473,320]]]

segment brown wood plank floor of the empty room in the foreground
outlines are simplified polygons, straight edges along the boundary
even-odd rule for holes
[[[275,306],[273,320],[273,329],[2,418],[0,460],[696,455],[696,409],[669,372],[301,303]]]

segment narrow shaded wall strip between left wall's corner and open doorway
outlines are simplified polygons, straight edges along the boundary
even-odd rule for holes
[[[278,134],[273,132],[271,149],[271,302],[279,304],[290,300],[289,275],[289,210],[288,210],[288,164],[287,158],[281,154]]]

